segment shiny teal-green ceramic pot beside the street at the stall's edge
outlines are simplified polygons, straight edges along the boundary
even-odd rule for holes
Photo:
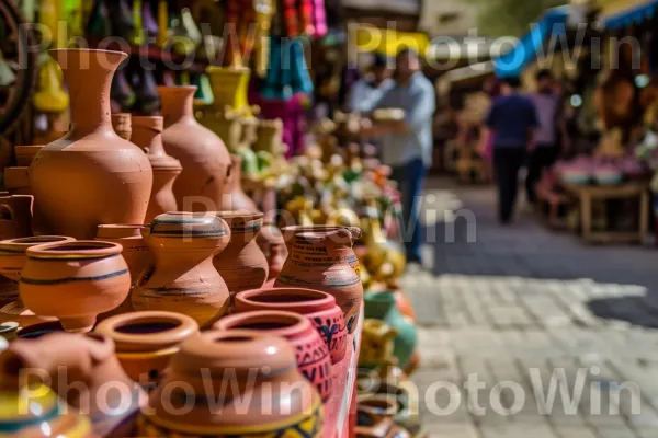
[[[398,366],[405,368],[418,344],[418,332],[413,323],[405,318],[396,307],[395,292],[371,292],[364,298],[365,318],[384,321],[397,332],[393,354]]]

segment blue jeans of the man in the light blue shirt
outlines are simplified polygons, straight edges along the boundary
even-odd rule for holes
[[[420,196],[427,169],[421,159],[393,168],[392,178],[397,181],[402,201],[400,233],[407,250],[407,261],[420,263],[422,224],[420,223]]]

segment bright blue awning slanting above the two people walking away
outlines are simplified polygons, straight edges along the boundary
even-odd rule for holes
[[[495,60],[496,74],[500,78],[520,77],[547,41],[566,34],[569,7],[547,10],[510,51]]]

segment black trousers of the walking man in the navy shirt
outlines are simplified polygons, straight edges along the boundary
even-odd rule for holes
[[[494,171],[498,185],[498,219],[503,223],[509,222],[514,212],[519,193],[519,171],[524,160],[524,148],[494,147]]]

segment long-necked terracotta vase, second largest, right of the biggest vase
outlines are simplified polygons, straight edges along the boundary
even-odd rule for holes
[[[194,118],[192,103],[196,87],[158,87],[157,90],[162,100],[164,150],[183,166],[173,183],[179,209],[222,209],[230,157],[222,139]]]

